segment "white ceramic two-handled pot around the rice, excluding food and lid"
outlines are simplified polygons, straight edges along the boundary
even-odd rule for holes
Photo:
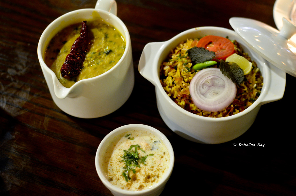
[[[237,40],[260,68],[264,77],[263,89],[258,99],[243,112],[223,118],[195,115],[174,103],[160,83],[160,65],[170,50],[174,49],[181,41],[186,41],[187,38],[200,38],[205,35],[228,36],[231,40]],[[228,142],[242,135],[255,121],[261,105],[283,97],[286,84],[284,71],[270,65],[249,49],[233,30],[219,27],[192,28],[168,41],[147,44],[141,54],[139,72],[155,86],[157,108],[166,125],[185,139],[206,144]]]

